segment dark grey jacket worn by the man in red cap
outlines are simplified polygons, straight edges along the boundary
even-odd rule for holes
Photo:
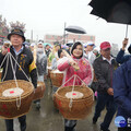
[[[107,93],[107,90],[112,87],[112,74],[117,67],[118,63],[115,59],[111,60],[111,64],[108,61],[103,60],[102,56],[95,59],[93,68],[96,79],[98,80],[98,92]]]

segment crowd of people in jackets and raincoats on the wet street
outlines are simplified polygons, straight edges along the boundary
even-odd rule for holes
[[[110,50],[109,41],[103,41],[99,45],[100,50],[94,48],[94,43],[87,43],[83,46],[81,41],[75,41],[69,52],[70,58],[64,53],[60,44],[52,47],[45,45],[41,41],[33,43],[29,47],[25,47],[25,36],[23,31],[14,28],[8,35],[11,41],[10,52],[14,56],[17,63],[22,67],[28,78],[31,78],[34,87],[37,87],[37,81],[44,82],[47,79],[47,67],[51,66],[51,70],[64,72],[64,86],[70,85],[87,85],[96,94],[96,106],[93,117],[93,124],[96,124],[102,111],[106,107],[106,115],[100,123],[100,131],[110,131],[109,126],[117,112],[117,116],[122,116],[127,124],[120,123],[118,131],[131,131],[128,124],[128,119],[131,118],[131,55],[124,56],[124,50],[128,45],[128,38],[122,41],[122,48],[115,58]],[[128,48],[131,53],[131,46]],[[8,47],[3,44],[0,52],[0,63],[8,53]],[[22,58],[22,56],[24,56]],[[11,62],[11,61],[9,61]],[[3,64],[2,78],[5,73],[7,61]],[[13,60],[16,80],[25,80],[22,71],[16,67]],[[79,67],[76,70],[75,67]],[[68,81],[72,75],[76,74],[79,79]],[[95,81],[94,81],[95,78]],[[3,81],[13,80],[13,71],[8,66],[7,75]],[[2,79],[1,79],[2,80]],[[55,90],[56,92],[57,90]],[[40,108],[40,99],[34,102],[36,108]],[[26,115],[19,117],[21,131],[26,130]],[[78,120],[64,119],[64,131],[75,131]],[[13,131],[13,119],[5,120],[7,131]]]

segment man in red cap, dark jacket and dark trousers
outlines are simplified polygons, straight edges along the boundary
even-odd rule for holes
[[[118,67],[116,60],[110,56],[110,44],[104,41],[100,44],[100,57],[94,61],[94,70],[96,79],[98,80],[97,87],[97,104],[93,117],[93,123],[97,122],[102,110],[106,107],[107,112],[100,124],[100,131],[109,131],[109,124],[116,112],[116,104],[114,102],[112,74]]]

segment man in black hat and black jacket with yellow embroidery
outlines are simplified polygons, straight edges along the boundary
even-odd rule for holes
[[[8,39],[11,41],[12,46],[10,47],[10,52],[15,58],[17,63],[21,66],[22,70],[25,72],[25,74],[31,79],[34,84],[34,86],[37,86],[37,73],[36,73],[36,66],[34,63],[34,58],[32,55],[32,51],[27,49],[23,41],[25,41],[24,33],[20,28],[14,28],[11,31],[11,33],[8,35]],[[0,52],[0,63],[4,59],[5,55],[8,52],[7,45],[2,46],[2,52]],[[11,58],[12,59],[12,58]],[[15,76],[17,80],[25,80],[28,81],[25,74],[20,70],[19,66],[16,66],[15,61],[12,59],[13,67],[11,67],[11,63],[5,59],[5,64],[3,64],[3,72],[2,72],[2,79],[4,73],[7,72],[7,75],[3,81],[7,80],[13,80],[13,71],[12,68],[14,68]],[[8,64],[8,70],[7,70]],[[2,80],[1,79],[1,80]],[[26,116],[19,117],[21,131],[26,130]],[[7,131],[14,131],[13,129],[13,119],[5,120]]]

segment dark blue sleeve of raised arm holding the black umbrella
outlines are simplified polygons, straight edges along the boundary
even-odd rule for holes
[[[131,55],[124,56],[124,50],[120,49],[120,51],[117,55],[116,61],[118,63],[123,63],[123,62],[128,61],[129,59],[131,59]]]

